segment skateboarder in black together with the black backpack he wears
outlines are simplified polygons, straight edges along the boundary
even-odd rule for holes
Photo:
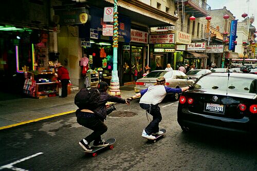
[[[106,82],[99,82],[96,88],[87,90],[82,89],[75,96],[75,104],[79,107],[76,110],[77,122],[93,132],[86,138],[82,139],[79,144],[86,151],[92,151],[90,143],[94,141],[94,147],[104,147],[109,145],[101,139],[101,135],[107,131],[107,126],[104,124],[106,119],[106,102],[115,102],[129,104],[127,100],[111,96],[107,93],[108,84]],[[83,92],[84,91],[84,92]],[[90,91],[88,93],[88,91]],[[88,95],[89,94],[89,95]],[[91,97],[90,97],[90,94]],[[84,102],[83,100],[84,96]]]

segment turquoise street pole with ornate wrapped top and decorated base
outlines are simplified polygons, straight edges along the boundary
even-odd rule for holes
[[[118,1],[114,0],[114,25],[113,25],[113,70],[109,94],[120,97],[120,83],[118,77]]]

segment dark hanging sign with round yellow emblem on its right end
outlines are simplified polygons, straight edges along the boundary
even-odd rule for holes
[[[88,15],[86,14],[86,8],[72,8],[72,9],[56,9],[54,10],[54,17],[56,18],[54,23],[66,25],[66,24],[85,24],[87,22]]]

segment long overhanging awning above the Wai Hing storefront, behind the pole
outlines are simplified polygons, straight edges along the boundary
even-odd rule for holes
[[[113,6],[113,0],[95,1],[88,0],[87,3],[103,9],[104,7]],[[149,27],[175,26],[177,17],[160,11],[143,2],[137,0],[121,0],[118,2],[119,14],[129,16],[131,21],[146,25]]]

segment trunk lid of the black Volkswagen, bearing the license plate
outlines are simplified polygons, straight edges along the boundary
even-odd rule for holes
[[[231,119],[242,119],[244,116],[249,115],[249,107],[253,104],[255,94],[252,93],[233,93],[226,91],[185,93],[187,99],[193,98],[193,104],[188,105],[188,110],[193,113],[200,113],[203,115],[224,117]],[[245,104],[246,110],[243,112],[238,109],[239,104]],[[197,107],[195,107],[197,106]]]

